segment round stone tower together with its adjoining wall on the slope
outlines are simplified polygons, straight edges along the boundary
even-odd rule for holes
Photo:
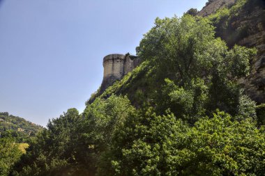
[[[121,80],[124,75],[131,72],[140,59],[130,54],[109,54],[103,58],[104,76],[100,86],[100,93],[112,86],[116,80]]]

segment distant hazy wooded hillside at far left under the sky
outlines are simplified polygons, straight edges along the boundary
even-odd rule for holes
[[[0,138],[13,137],[17,143],[24,143],[35,137],[42,128],[24,118],[0,112]]]

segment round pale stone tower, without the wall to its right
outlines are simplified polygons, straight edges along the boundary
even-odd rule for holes
[[[100,92],[111,86],[116,80],[121,80],[124,75],[123,54],[109,54],[103,58],[104,76],[101,83]]]

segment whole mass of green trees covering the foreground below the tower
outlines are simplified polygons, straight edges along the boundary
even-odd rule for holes
[[[264,105],[236,81],[256,49],[193,15],[157,18],[142,64],[51,120],[10,175],[264,175]]]

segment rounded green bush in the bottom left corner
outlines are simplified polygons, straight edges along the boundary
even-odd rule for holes
[[[21,155],[22,152],[13,139],[0,138],[0,175],[7,176]]]

